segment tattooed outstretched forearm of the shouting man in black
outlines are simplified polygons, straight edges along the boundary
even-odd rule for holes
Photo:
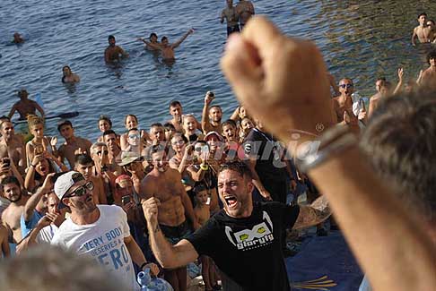
[[[322,195],[310,206],[301,206],[297,221],[293,229],[313,227],[326,220],[332,214],[327,198]]]

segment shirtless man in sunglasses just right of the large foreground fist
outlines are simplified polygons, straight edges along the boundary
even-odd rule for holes
[[[333,109],[335,111],[336,122],[338,124],[349,124],[356,130],[359,128],[357,117],[353,114],[353,81],[344,78],[339,81],[339,95],[332,99]]]

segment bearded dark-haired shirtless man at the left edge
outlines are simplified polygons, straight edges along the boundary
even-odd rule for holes
[[[22,240],[20,219],[29,196],[22,193],[20,182],[13,175],[5,177],[2,180],[2,186],[4,197],[11,201],[11,204],[2,213],[3,225],[8,229],[11,238],[9,242],[17,244]]]

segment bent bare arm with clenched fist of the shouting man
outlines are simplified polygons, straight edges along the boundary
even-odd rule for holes
[[[158,207],[161,202],[152,197],[143,201],[142,204],[153,254],[161,266],[165,269],[176,269],[195,261],[198,252],[186,239],[182,239],[178,244],[171,245],[163,236],[157,220]]]

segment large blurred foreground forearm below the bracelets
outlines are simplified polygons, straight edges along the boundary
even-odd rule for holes
[[[380,184],[359,150],[345,150],[309,175],[330,201],[375,290],[429,289],[436,261],[432,243],[403,204]],[[390,276],[380,276],[386,270]]]

